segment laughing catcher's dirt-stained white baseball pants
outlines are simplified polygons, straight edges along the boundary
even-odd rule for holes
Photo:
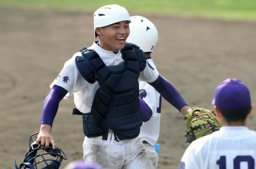
[[[108,140],[102,136],[85,137],[84,161],[100,164],[104,169],[154,169],[139,137],[117,142],[114,133]]]

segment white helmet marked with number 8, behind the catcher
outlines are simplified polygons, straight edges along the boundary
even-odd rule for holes
[[[130,35],[127,42],[134,43],[143,52],[153,52],[158,40],[158,32],[155,25],[145,17],[131,16]]]

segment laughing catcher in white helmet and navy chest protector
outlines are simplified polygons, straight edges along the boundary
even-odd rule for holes
[[[153,169],[138,137],[145,121],[139,108],[138,80],[150,83],[182,114],[190,107],[174,86],[146,62],[138,46],[125,43],[131,22],[125,8],[106,5],[93,17],[93,31],[99,40],[74,54],[50,85],[36,142],[56,147],[51,131],[59,102],[74,95],[73,114],[82,115],[86,135],[84,161],[105,169]],[[201,116],[200,112],[194,115]]]

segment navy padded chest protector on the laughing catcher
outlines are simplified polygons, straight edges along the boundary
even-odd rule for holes
[[[124,63],[107,67],[94,50],[81,48],[75,59],[80,74],[89,83],[98,81],[91,113],[83,114],[84,134],[96,137],[112,130],[120,140],[134,139],[142,125],[138,77],[146,67],[146,56],[134,44],[121,50]],[[81,114],[77,109],[73,114]]]

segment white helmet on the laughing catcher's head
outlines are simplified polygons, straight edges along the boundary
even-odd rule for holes
[[[129,21],[129,23],[131,23],[128,11],[120,5],[106,5],[96,10],[93,14],[95,38],[98,36],[95,32],[96,28],[101,28],[120,21]]]

